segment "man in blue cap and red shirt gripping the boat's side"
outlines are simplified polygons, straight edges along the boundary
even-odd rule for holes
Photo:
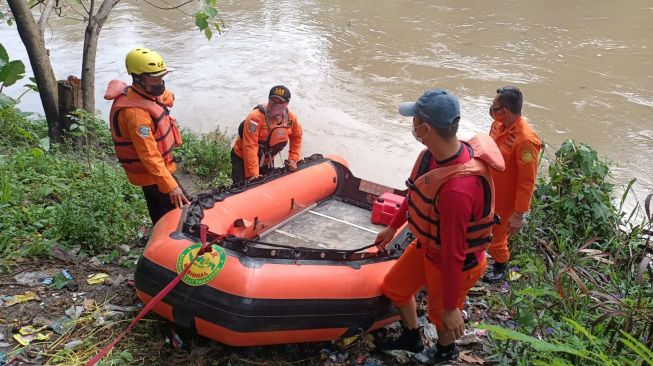
[[[407,217],[416,238],[382,285],[399,311],[403,332],[395,340],[378,340],[377,347],[414,352],[418,362],[433,365],[458,357],[454,341],[465,330],[461,309],[485,271],[485,248],[496,221],[489,167],[503,169],[503,159],[487,135],[458,140],[458,98],[444,90],[432,89],[416,103],[403,103],[399,113],[413,116],[413,136],[427,149],[406,182],[407,200],[377,236],[379,249],[385,248]],[[438,331],[438,343],[429,349],[422,343],[414,297],[424,285],[428,316]]]

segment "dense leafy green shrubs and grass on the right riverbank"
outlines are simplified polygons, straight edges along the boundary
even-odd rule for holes
[[[540,177],[529,221],[511,243],[524,276],[493,299],[515,329],[486,326],[495,361],[653,364],[653,287],[637,276],[650,224],[622,212],[632,181],[615,207],[609,173],[596,151],[566,141]]]

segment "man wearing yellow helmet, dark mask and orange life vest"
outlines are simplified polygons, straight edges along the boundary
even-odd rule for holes
[[[113,100],[109,113],[111,137],[118,161],[129,181],[143,188],[147,209],[156,224],[188,199],[173,176],[172,151],[181,145],[176,120],[170,116],[174,96],[166,90],[165,61],[149,48],[134,48],[125,58],[132,85],[109,83],[104,98]]]

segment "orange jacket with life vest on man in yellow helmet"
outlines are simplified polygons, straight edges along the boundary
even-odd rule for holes
[[[155,102],[124,82],[112,80],[104,98],[113,100],[111,136],[129,181],[137,186],[156,184],[162,193],[176,188],[172,150],[181,145],[181,135],[167,109],[173,104],[172,92],[166,90]]]

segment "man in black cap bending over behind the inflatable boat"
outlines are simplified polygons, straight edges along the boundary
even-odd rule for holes
[[[231,179],[256,178],[274,167],[274,157],[290,141],[288,169],[297,170],[301,156],[302,126],[288,110],[290,90],[283,85],[270,89],[268,102],[254,107],[238,128],[231,150]]]

